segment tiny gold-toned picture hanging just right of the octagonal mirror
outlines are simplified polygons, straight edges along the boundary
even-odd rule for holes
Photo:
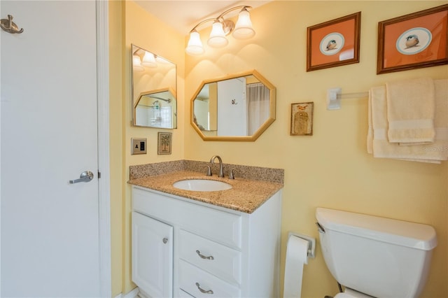
[[[314,102],[291,104],[291,136],[313,135]]]

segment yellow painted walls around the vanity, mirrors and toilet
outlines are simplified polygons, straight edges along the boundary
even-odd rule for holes
[[[251,11],[257,31],[254,38],[245,42],[229,38],[225,49],[208,50],[200,58],[184,55],[187,39],[134,2],[115,2],[109,2],[116,8],[111,8],[110,16],[120,19],[121,15],[123,24],[121,27],[111,24],[111,36],[121,34],[123,43],[121,58],[117,57],[120,67],[112,67],[118,61],[111,61],[111,76],[122,77],[120,87],[111,83],[111,90],[116,92],[111,94],[114,102],[111,135],[118,134],[111,136],[111,146],[121,146],[120,154],[111,155],[111,167],[120,173],[114,176],[118,185],[112,186],[112,254],[119,259],[113,259],[113,295],[125,294],[134,288],[130,280],[131,197],[125,182],[129,166],[177,159],[205,161],[218,154],[225,163],[285,169],[282,271],[288,231],[318,239],[315,208],[339,208],[433,225],[439,245],[434,251],[423,297],[448,297],[447,162],[434,165],[374,159],[367,155],[365,148],[367,101],[344,99],[339,111],[325,108],[325,94],[330,87],[342,87],[345,93],[365,92],[388,80],[448,78],[447,66],[376,75],[378,22],[447,1],[273,1]],[[362,12],[360,63],[307,73],[307,27],[358,11]],[[118,36],[111,39],[117,43],[120,40]],[[157,155],[157,133],[163,129],[131,125],[131,43],[162,55],[178,66],[179,128],[165,130],[173,132],[172,155]],[[206,78],[250,69],[257,69],[276,86],[275,122],[255,142],[202,141],[190,125],[190,98],[197,87]],[[121,106],[116,104],[117,99],[121,99]],[[314,135],[290,136],[290,104],[307,101],[314,101]],[[148,139],[147,155],[130,155],[132,137]],[[335,295],[337,285],[325,267],[319,245],[316,255],[304,269],[302,296]]]

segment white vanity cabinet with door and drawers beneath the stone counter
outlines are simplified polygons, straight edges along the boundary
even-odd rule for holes
[[[132,186],[132,208],[132,280],[147,295],[279,297],[281,190],[248,214]]]

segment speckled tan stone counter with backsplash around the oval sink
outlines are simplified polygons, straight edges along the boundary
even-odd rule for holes
[[[193,169],[202,170],[207,165],[210,165],[205,162],[203,164],[202,162],[195,163],[183,160],[130,166],[129,183],[245,213],[253,213],[269,197],[272,197],[273,194],[283,188],[283,169],[242,166],[244,168],[243,171],[241,166],[224,164],[224,169],[227,168],[225,173],[230,172],[230,169],[235,169],[235,179],[229,179],[228,175],[225,178],[216,176],[216,171],[213,171],[213,168],[214,176],[206,176],[205,171],[192,171],[192,166]],[[254,168],[252,169],[253,171],[250,168]],[[252,179],[246,178],[247,174],[246,176],[242,175],[246,171],[251,173]],[[260,173],[259,179],[255,179],[257,178],[256,175],[253,176],[254,171]],[[197,192],[181,190],[173,186],[173,183],[176,181],[186,179],[220,180],[232,185],[232,188],[216,192]]]

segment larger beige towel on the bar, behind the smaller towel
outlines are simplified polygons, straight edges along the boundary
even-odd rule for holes
[[[448,80],[437,80],[437,136],[430,145],[400,146],[387,139],[386,87],[372,87],[369,91],[369,128],[367,131],[367,152],[374,157],[405,159],[414,162],[439,164],[448,157]]]

